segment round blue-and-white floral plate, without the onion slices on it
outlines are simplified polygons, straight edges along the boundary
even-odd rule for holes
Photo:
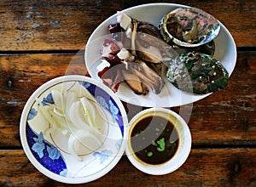
[[[67,133],[50,128],[40,107],[54,104],[52,90],[75,90],[79,98],[92,101],[96,111],[96,128],[102,144],[79,159],[68,149]],[[124,106],[113,92],[89,77],[64,76],[44,83],[26,102],[20,118],[20,139],[26,156],[49,178],[68,184],[80,184],[101,178],[123,156],[128,119]],[[68,134],[73,133],[72,129]]]

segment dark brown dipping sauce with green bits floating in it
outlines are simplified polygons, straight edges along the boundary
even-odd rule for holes
[[[161,164],[175,155],[178,146],[177,130],[162,116],[147,116],[131,131],[131,149],[148,164]]]

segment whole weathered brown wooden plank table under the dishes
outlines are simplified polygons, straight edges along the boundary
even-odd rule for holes
[[[165,2],[202,8],[229,29],[238,52],[229,85],[193,104],[192,150],[176,172],[150,176],[123,156],[110,173],[86,185],[256,186],[256,2]],[[96,26],[117,10],[143,3],[153,1],[1,1],[0,186],[68,186],[28,161],[20,144],[21,111],[44,82],[85,75],[83,53],[77,53]]]

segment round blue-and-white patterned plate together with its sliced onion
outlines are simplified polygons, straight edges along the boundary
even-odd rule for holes
[[[91,104],[94,127],[84,120],[83,99]],[[27,100],[20,139],[41,173],[62,183],[81,184],[101,178],[118,163],[127,125],[124,106],[107,86],[89,77],[64,76],[44,83]]]

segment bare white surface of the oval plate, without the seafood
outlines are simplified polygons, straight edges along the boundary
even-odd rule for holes
[[[123,12],[136,20],[147,21],[154,26],[158,26],[159,21],[164,14],[169,13],[172,9],[178,7],[187,6],[173,3],[149,3],[127,8],[123,10]],[[100,59],[102,58],[99,52],[100,49],[102,49],[102,43],[105,39],[104,36],[109,34],[108,26],[117,22],[116,17],[117,14],[113,14],[107,20],[103,21],[102,24],[91,34],[86,44],[84,53],[85,65],[92,78],[100,79],[97,76],[96,71],[96,66],[100,64]],[[226,27],[221,23],[220,26],[221,28],[218,37],[214,39],[216,48],[214,57],[224,65],[231,75],[236,65],[236,43]],[[116,94],[119,99],[127,103],[146,107],[172,107],[186,105],[203,99],[209,95],[188,94],[175,88],[170,82],[166,82],[166,86],[160,94],[150,92],[146,96],[134,94],[131,88],[129,88],[125,83],[121,83],[119,91]]]

